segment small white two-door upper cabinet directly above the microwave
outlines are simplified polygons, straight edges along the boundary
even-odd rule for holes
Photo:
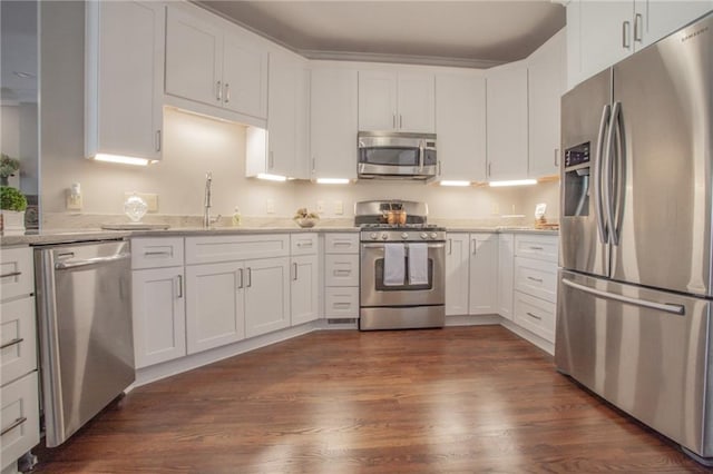
[[[359,129],[433,132],[431,73],[359,71]]]

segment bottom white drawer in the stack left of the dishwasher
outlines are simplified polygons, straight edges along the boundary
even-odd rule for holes
[[[0,388],[0,458],[4,470],[40,442],[37,371]]]

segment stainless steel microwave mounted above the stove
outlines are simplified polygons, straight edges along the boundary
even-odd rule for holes
[[[360,131],[359,178],[433,178],[438,171],[434,134]]]

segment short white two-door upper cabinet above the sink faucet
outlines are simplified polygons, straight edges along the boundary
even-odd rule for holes
[[[238,27],[168,7],[166,93],[264,119],[267,56]]]

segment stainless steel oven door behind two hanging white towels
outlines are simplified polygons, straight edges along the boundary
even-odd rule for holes
[[[361,306],[434,306],[446,303],[446,244],[428,244],[428,284],[387,286],[383,284],[384,248],[388,244],[361,245]],[[406,244],[409,267],[409,244]]]

